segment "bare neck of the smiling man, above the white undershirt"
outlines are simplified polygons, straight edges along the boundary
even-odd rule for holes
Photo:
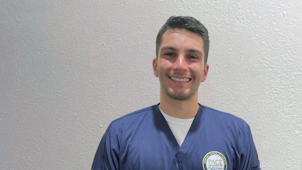
[[[160,93],[160,110],[163,113],[179,119],[194,118],[198,109],[198,92],[188,100],[171,99],[166,94]]]

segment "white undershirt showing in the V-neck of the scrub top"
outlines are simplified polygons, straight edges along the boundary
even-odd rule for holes
[[[179,119],[176,117],[169,116],[169,115],[163,113],[161,110],[160,110],[160,112],[162,113],[162,116],[165,117],[178,145],[181,146],[182,142],[184,142],[185,137],[188,134],[188,131],[192,125],[194,118]]]

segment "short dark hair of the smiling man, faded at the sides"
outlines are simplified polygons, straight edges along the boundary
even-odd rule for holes
[[[162,43],[162,35],[169,29],[185,29],[200,35],[204,41],[204,64],[207,63],[210,47],[207,28],[197,19],[188,16],[172,16],[160,28],[156,36],[156,59],[158,58],[159,45]]]

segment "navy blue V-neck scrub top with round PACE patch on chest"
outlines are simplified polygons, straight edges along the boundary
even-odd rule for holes
[[[200,105],[200,104],[199,104]],[[111,122],[92,170],[260,170],[249,125],[200,105],[179,147],[159,104]]]

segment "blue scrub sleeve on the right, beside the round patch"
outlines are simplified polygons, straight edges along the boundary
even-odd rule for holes
[[[249,125],[246,124],[245,132],[240,132],[240,170],[260,170],[258,154],[253,141]]]

